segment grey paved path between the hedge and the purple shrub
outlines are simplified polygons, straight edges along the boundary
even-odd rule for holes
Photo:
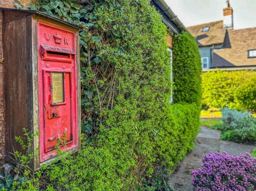
[[[240,153],[245,154],[256,149],[256,146],[239,144],[232,141],[219,140],[220,131],[211,130],[206,127],[201,127],[201,132],[197,136],[197,147],[189,153],[186,159],[180,164],[177,171],[171,176],[169,184],[172,185],[176,191],[191,191],[191,179],[193,175],[192,170],[197,170],[202,166],[202,158],[205,154],[226,151],[229,155],[237,156]]]

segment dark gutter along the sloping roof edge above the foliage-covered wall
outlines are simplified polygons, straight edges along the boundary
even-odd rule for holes
[[[180,30],[180,31],[186,31],[188,33],[190,33],[187,28],[184,26],[184,24],[178,19],[178,17],[174,14],[174,12],[172,11],[172,9],[165,3],[164,0],[152,0],[156,3],[156,5],[159,7],[159,9],[161,9],[163,11],[163,13],[165,13],[167,15],[167,17],[176,24],[176,27]],[[165,22],[164,19],[162,19],[163,22],[165,24],[167,24]],[[167,25],[168,26],[168,25]],[[168,26],[169,27],[169,26]]]

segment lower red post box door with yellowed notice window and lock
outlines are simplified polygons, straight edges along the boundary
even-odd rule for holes
[[[67,144],[71,137],[70,73],[44,72],[45,89],[45,152],[53,150],[60,139]]]

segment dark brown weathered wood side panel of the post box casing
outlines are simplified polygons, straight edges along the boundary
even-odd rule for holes
[[[32,127],[31,32],[29,17],[3,24],[6,155],[13,153],[13,149],[22,151],[15,136],[26,142],[22,129]]]

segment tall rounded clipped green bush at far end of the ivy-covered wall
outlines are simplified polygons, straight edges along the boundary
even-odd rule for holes
[[[173,100],[201,103],[201,57],[194,37],[183,32],[173,40]]]

